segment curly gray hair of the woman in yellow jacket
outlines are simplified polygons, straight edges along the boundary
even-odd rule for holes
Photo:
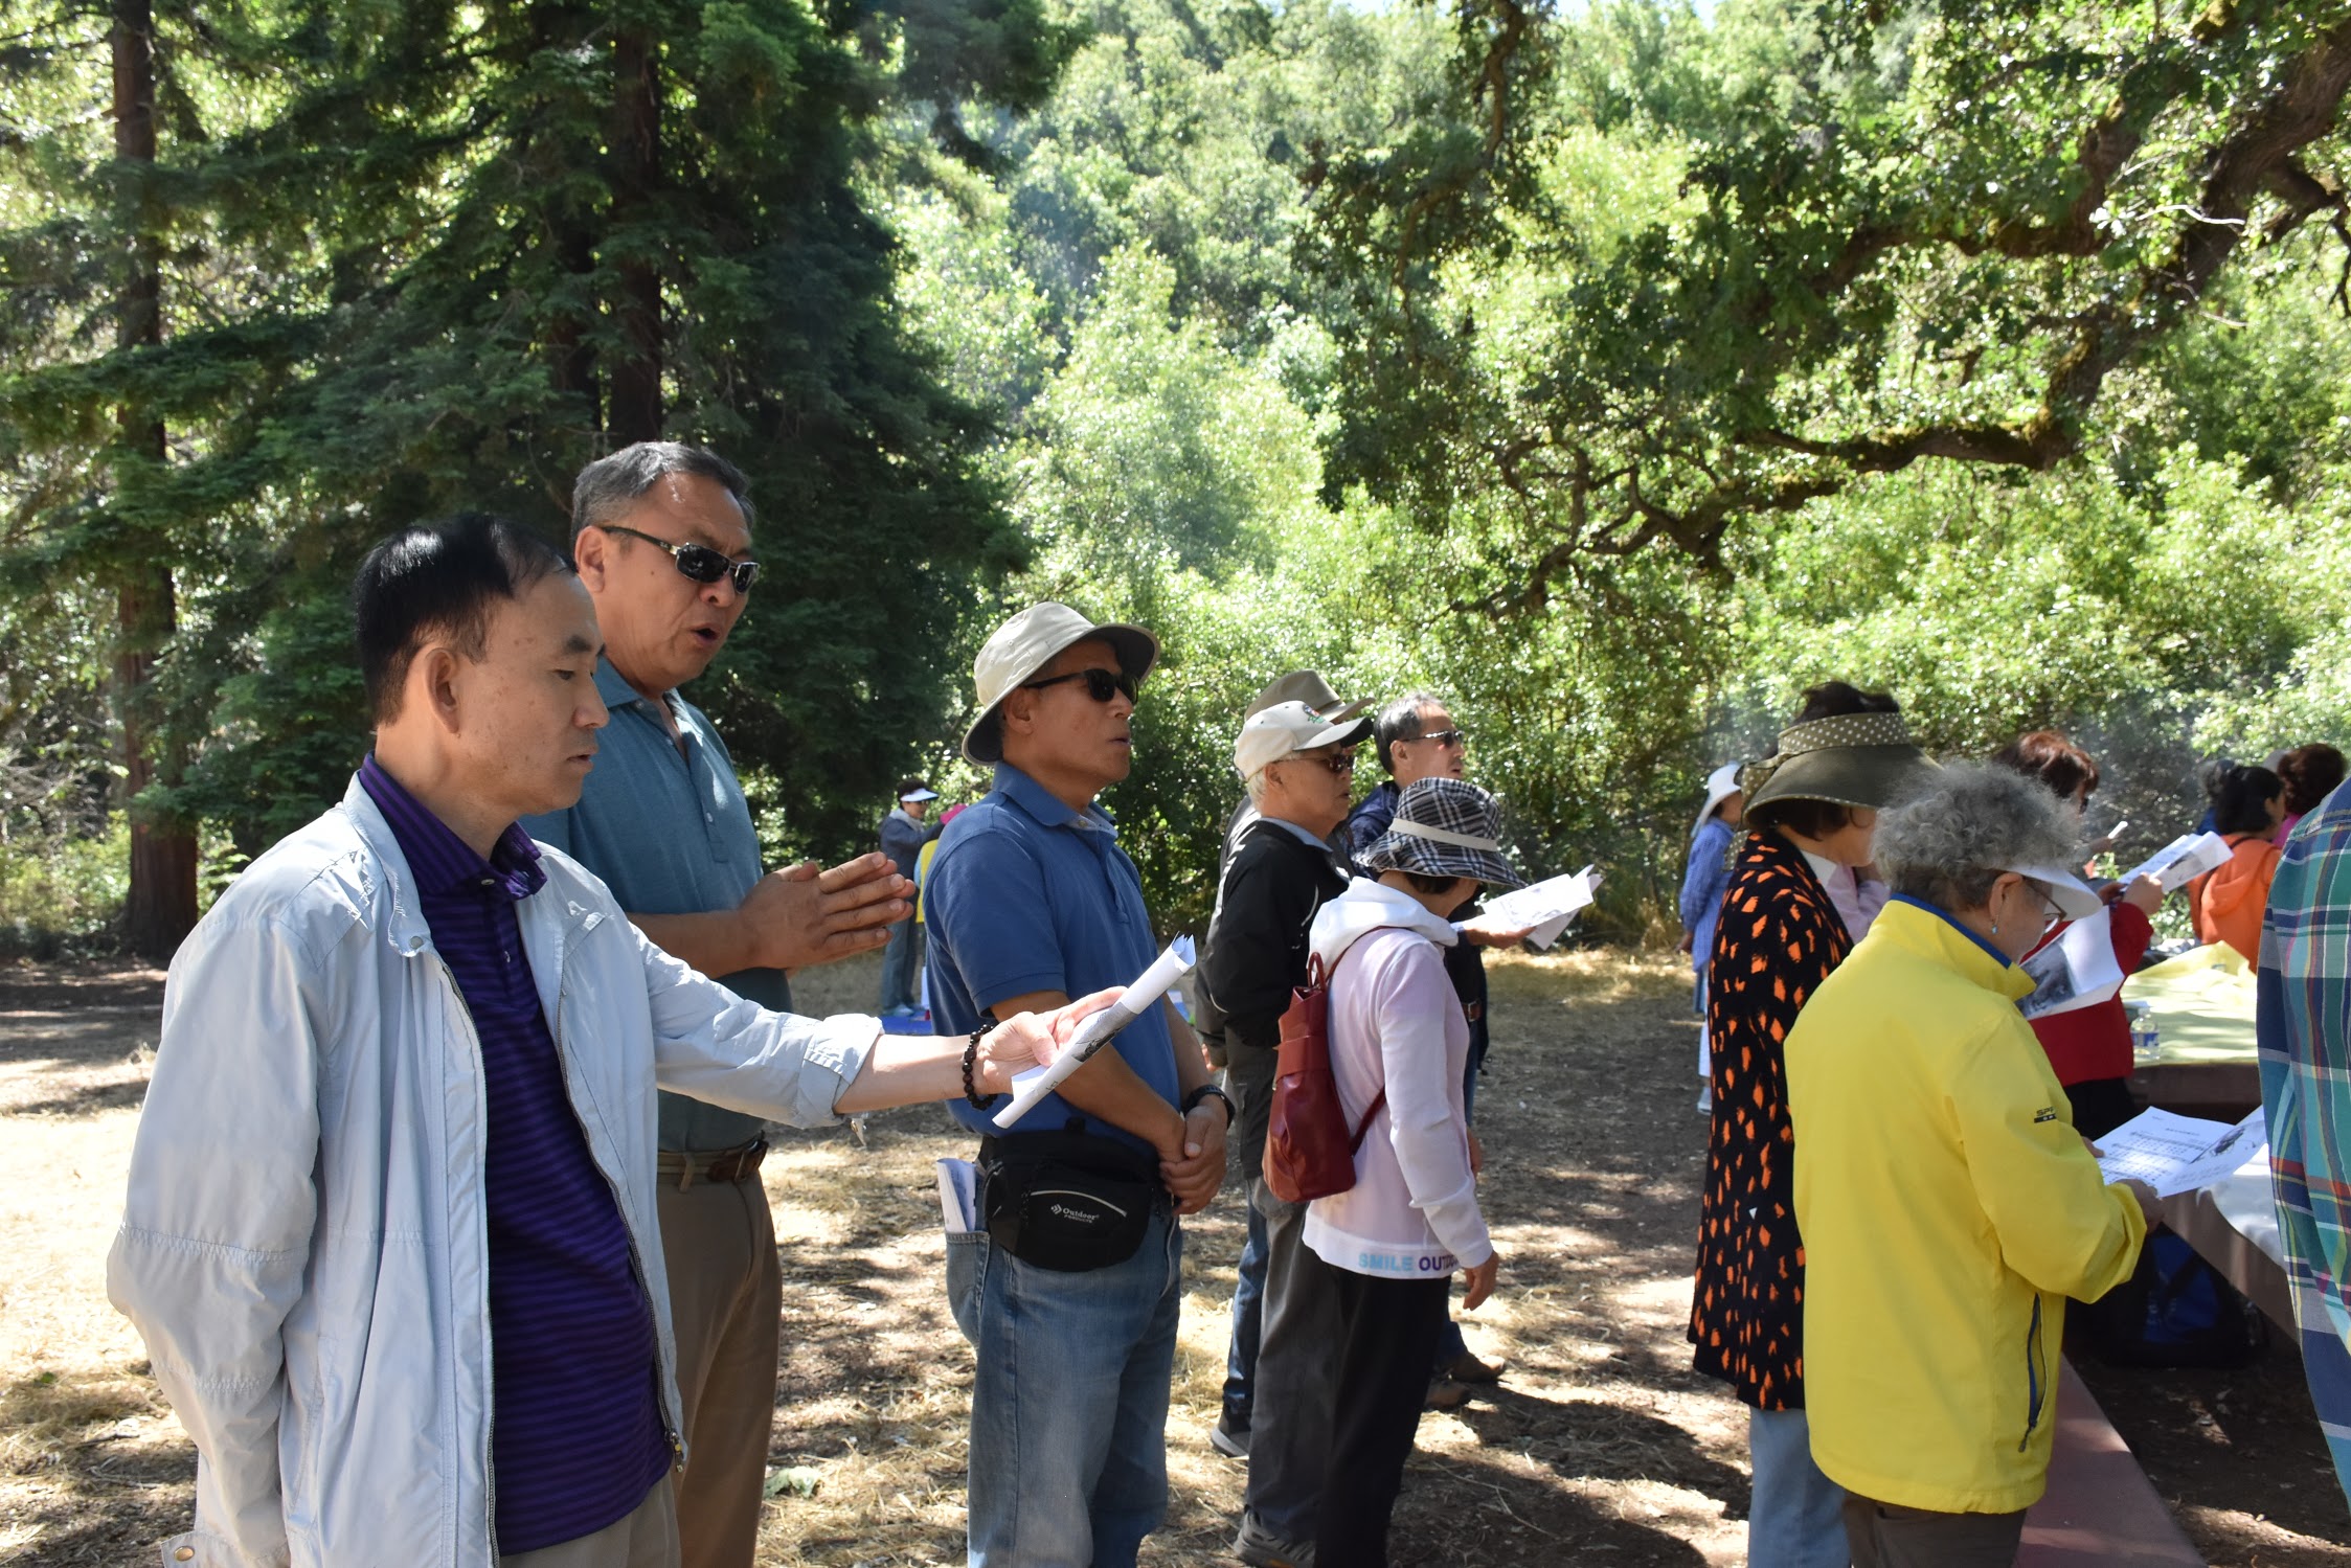
[[[2067,865],[2081,823],[2043,785],[1982,762],[1925,769],[1878,813],[1878,870],[1895,893],[1980,910],[2010,865]]]

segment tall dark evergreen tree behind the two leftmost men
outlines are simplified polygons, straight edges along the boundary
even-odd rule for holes
[[[125,249],[96,174],[59,183],[63,216],[0,214],[0,254],[56,292],[0,376],[5,545],[31,571],[92,557],[94,517],[150,520],[122,555],[146,637],[125,649],[169,719],[127,726],[158,766],[143,799],[245,849],[315,811],[364,743],[334,656],[357,552],[458,508],[564,534],[585,461],[677,437],[745,468],[771,567],[696,696],[795,846],[853,844],[868,797],[950,731],[969,581],[1020,559],[973,468],[987,421],[891,315],[893,240],[858,193],[886,61],[926,59],[877,40],[912,24],[797,0],[296,0],[228,40],[183,21],[268,63],[216,68],[230,113],[115,181],[143,212],[169,197],[165,294],[202,277],[202,308],[158,334],[125,284],[113,341],[73,327],[94,280],[71,256],[113,244],[139,277],[158,254]],[[1060,35],[1027,7],[990,38],[1006,26],[1037,35],[1002,71],[931,66],[919,89],[1034,94]]]

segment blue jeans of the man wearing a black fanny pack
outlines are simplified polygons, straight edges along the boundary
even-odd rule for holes
[[[1183,1227],[1152,1215],[1126,1262],[1039,1269],[947,1237],[971,1340],[971,1568],[1133,1568],[1168,1502],[1166,1425]]]

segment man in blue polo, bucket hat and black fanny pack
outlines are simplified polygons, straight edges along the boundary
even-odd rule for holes
[[[924,889],[947,1032],[1126,985],[1157,957],[1143,879],[1096,804],[1133,766],[1128,719],[1157,656],[1143,628],[1034,604],[973,661],[964,755],[994,764],[994,788],[947,827]],[[1178,1215],[1225,1180],[1232,1100],[1173,1006],[1011,1133],[994,1135],[992,1098],[966,1100],[983,1190],[973,1229],[947,1234],[947,1298],[978,1363],[969,1561],[1133,1563],[1166,1512]],[[1119,1218],[1072,1232],[1072,1204]]]

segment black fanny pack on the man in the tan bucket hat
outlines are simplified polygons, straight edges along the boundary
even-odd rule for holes
[[[980,1140],[980,1218],[1020,1262],[1081,1274],[1126,1262],[1154,1208],[1159,1161],[1117,1138],[1011,1133]]]

